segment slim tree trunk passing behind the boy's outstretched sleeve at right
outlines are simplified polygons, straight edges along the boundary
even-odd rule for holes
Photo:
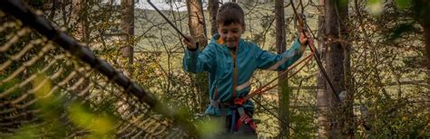
[[[275,1],[275,14],[276,14],[276,47],[278,53],[282,53],[286,51],[286,25],[285,25],[285,17],[284,17],[284,1],[283,0],[276,0]],[[278,75],[280,75],[282,72],[279,71]],[[286,137],[289,136],[289,129],[288,129],[288,116],[289,116],[289,94],[290,89],[288,88],[288,75],[279,76],[279,127],[280,127],[280,134],[279,137]],[[282,81],[283,80],[283,81]]]

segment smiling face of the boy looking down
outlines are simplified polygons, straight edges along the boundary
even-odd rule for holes
[[[240,35],[245,31],[244,28],[244,25],[240,23],[230,23],[229,25],[219,23],[218,32],[220,33],[220,39],[224,41],[227,47],[234,48],[238,46]]]

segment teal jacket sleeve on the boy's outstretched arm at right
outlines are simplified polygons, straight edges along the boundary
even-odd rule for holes
[[[298,40],[293,43],[292,47],[288,51],[281,54],[262,51],[257,47],[257,69],[286,70],[303,55],[303,51],[300,51],[299,49],[300,43]]]

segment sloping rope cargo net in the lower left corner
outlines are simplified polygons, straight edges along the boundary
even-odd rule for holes
[[[0,138],[187,135],[115,83],[116,76],[107,78],[22,21],[0,14]]]

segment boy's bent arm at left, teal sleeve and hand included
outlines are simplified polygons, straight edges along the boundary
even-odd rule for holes
[[[201,72],[212,69],[213,64],[213,50],[210,45],[207,46],[202,52],[198,51],[199,46],[191,36],[186,36],[183,42],[187,45],[185,54],[182,60],[182,67],[188,72]]]

